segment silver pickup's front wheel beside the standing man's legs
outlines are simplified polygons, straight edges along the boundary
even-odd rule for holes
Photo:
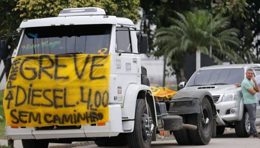
[[[237,137],[249,137],[251,133],[249,115],[245,110],[241,121],[235,123],[235,131]]]

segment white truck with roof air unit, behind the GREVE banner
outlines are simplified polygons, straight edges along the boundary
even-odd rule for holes
[[[49,143],[87,140],[95,141],[98,146],[149,148],[151,141],[156,139],[155,134],[163,134],[165,130],[184,127],[195,130],[197,134],[201,132],[194,125],[183,124],[181,116],[169,115],[164,102],[154,101],[147,72],[140,59],[140,54],[147,53],[148,37],[138,32],[130,19],[107,16],[100,8],[71,8],[63,9],[58,17],[24,20],[20,28],[23,31],[15,56],[111,55],[109,122],[55,127],[6,126],[6,134],[11,139],[22,139],[24,148],[47,148]],[[55,41],[57,39],[59,42]],[[0,46],[1,58],[6,59],[4,40]],[[210,95],[207,99],[213,100]],[[214,115],[215,106],[211,105]],[[214,129],[212,123],[210,121],[208,125],[211,132],[206,142],[199,144],[209,143]]]

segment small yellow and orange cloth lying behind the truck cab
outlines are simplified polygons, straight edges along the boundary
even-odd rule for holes
[[[156,97],[164,97],[164,98],[171,99],[172,96],[177,93],[177,91],[170,90],[166,87],[155,87],[155,86],[150,86],[150,87],[152,88],[153,95]]]

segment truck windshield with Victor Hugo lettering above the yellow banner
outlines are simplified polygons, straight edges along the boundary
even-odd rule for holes
[[[17,55],[108,54],[111,24],[25,28]]]

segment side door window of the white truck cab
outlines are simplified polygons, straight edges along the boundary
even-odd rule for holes
[[[129,30],[128,28],[117,27],[119,30]],[[116,31],[116,52],[132,52],[130,31]]]

